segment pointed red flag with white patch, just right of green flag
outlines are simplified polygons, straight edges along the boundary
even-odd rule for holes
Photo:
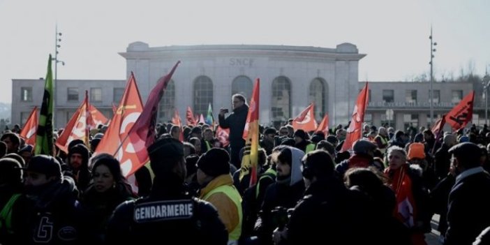
[[[72,140],[83,140],[85,145],[89,147],[89,124],[91,117],[89,112],[89,91],[85,90],[85,99],[78,107],[73,117],[71,117],[66,127],[59,135],[59,138],[56,140],[55,144],[61,151],[65,151],[68,153],[68,144]],[[90,149],[90,148],[89,148]]]

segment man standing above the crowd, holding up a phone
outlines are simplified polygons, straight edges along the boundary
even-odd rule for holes
[[[230,128],[231,162],[235,167],[240,168],[241,159],[239,158],[239,152],[245,146],[245,140],[242,138],[242,135],[244,134],[248,105],[242,94],[234,94],[232,96],[232,102],[233,112],[225,118],[228,109],[221,108],[218,119],[221,128]]]

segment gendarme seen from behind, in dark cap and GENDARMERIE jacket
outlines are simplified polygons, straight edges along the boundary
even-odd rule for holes
[[[179,244],[226,244],[228,232],[216,209],[186,193],[183,144],[161,139],[148,147],[148,153],[155,174],[151,193],[117,207],[107,225],[107,244],[176,240]]]

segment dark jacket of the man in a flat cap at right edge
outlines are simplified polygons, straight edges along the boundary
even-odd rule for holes
[[[460,175],[449,195],[445,245],[472,244],[490,225],[490,175],[482,169],[463,179]]]

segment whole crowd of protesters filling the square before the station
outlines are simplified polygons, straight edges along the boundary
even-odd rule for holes
[[[114,156],[93,154],[107,126],[56,156],[34,156],[20,127],[4,131],[0,244],[418,245],[434,214],[442,244],[489,244],[487,125],[434,135],[366,124],[342,152],[347,126],[327,135],[291,121],[260,126],[250,184],[240,175],[250,154],[242,139],[248,107],[233,99],[232,114],[221,110],[218,120],[230,128],[229,144],[217,138],[218,124],[159,123],[150,163],[132,178]]]

